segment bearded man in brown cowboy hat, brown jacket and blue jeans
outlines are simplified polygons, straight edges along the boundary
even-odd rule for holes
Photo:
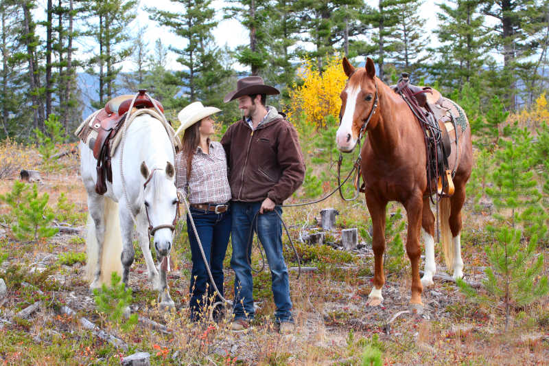
[[[248,328],[254,317],[250,229],[257,227],[272,277],[277,310],[274,320],[281,333],[291,332],[292,301],[288,269],[282,253],[281,205],[303,183],[305,164],[297,133],[284,116],[266,106],[266,95],[279,94],[262,78],[250,76],[237,82],[237,90],[224,102],[238,100],[244,117],[231,125],[221,139],[229,163],[235,300],[233,330]],[[278,213],[278,214],[277,214]],[[255,221],[257,220],[257,222]],[[253,226],[252,226],[253,225]]]

